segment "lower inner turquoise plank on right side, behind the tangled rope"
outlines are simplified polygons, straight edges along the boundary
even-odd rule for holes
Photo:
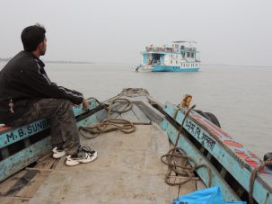
[[[171,142],[176,141],[176,137],[178,136],[178,130],[175,129],[171,123],[167,120],[162,121],[162,129],[167,131],[168,136],[171,139]],[[206,164],[210,166],[212,170],[212,186],[219,186],[224,195],[224,200],[240,200],[237,197],[236,193],[230,188],[230,186],[221,178],[220,174],[216,171],[215,167],[204,157],[201,152],[195,147],[187,137],[180,136],[180,140],[178,146],[184,149],[187,155],[193,157],[198,164]],[[207,183],[208,176],[205,168],[197,169],[198,176],[201,177],[202,181]]]

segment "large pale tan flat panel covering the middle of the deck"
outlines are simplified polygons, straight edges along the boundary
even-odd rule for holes
[[[169,141],[158,126],[82,138],[82,143],[98,151],[97,160],[74,167],[61,161],[30,203],[170,203],[178,196],[179,188],[170,190],[164,182],[167,166],[160,157]]]

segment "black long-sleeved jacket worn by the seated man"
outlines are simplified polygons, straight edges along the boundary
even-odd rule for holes
[[[20,118],[43,98],[83,102],[82,93],[50,82],[44,66],[31,52],[21,51],[0,71],[0,123]]]

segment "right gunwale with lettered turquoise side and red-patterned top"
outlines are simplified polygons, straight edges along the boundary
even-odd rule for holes
[[[180,124],[184,119],[184,111],[179,111],[178,108],[173,106],[170,102],[165,104],[164,111],[166,111],[171,117],[177,115],[176,121]],[[207,121],[196,112],[192,112],[192,114],[196,114],[196,117],[193,118],[192,116],[189,116],[185,120],[183,128],[186,129],[192,137],[195,137],[197,141],[202,144],[202,146],[204,146],[229,173],[233,175],[246,191],[249,191],[250,171],[253,170],[253,166],[251,165],[260,164],[259,158],[253,157],[253,154],[241,146],[241,144],[233,141],[232,137],[229,137],[222,129],[212,125],[210,121]],[[201,121],[205,121],[208,127],[200,124]],[[227,146],[224,144],[224,141],[227,141],[228,143],[233,142],[236,146]],[[235,151],[246,155],[247,159],[242,159],[235,153]],[[266,174],[272,177],[272,173],[269,173],[268,169],[266,171]],[[253,198],[259,203],[272,203],[271,184],[261,180],[261,177],[258,176],[253,188]]]

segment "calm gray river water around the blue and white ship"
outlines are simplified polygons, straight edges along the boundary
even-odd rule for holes
[[[4,63],[0,64],[0,69]],[[272,152],[272,68],[202,66],[197,73],[136,73],[125,64],[47,64],[51,81],[103,101],[124,87],[143,87],[158,101],[215,114],[222,129],[260,158]]]

